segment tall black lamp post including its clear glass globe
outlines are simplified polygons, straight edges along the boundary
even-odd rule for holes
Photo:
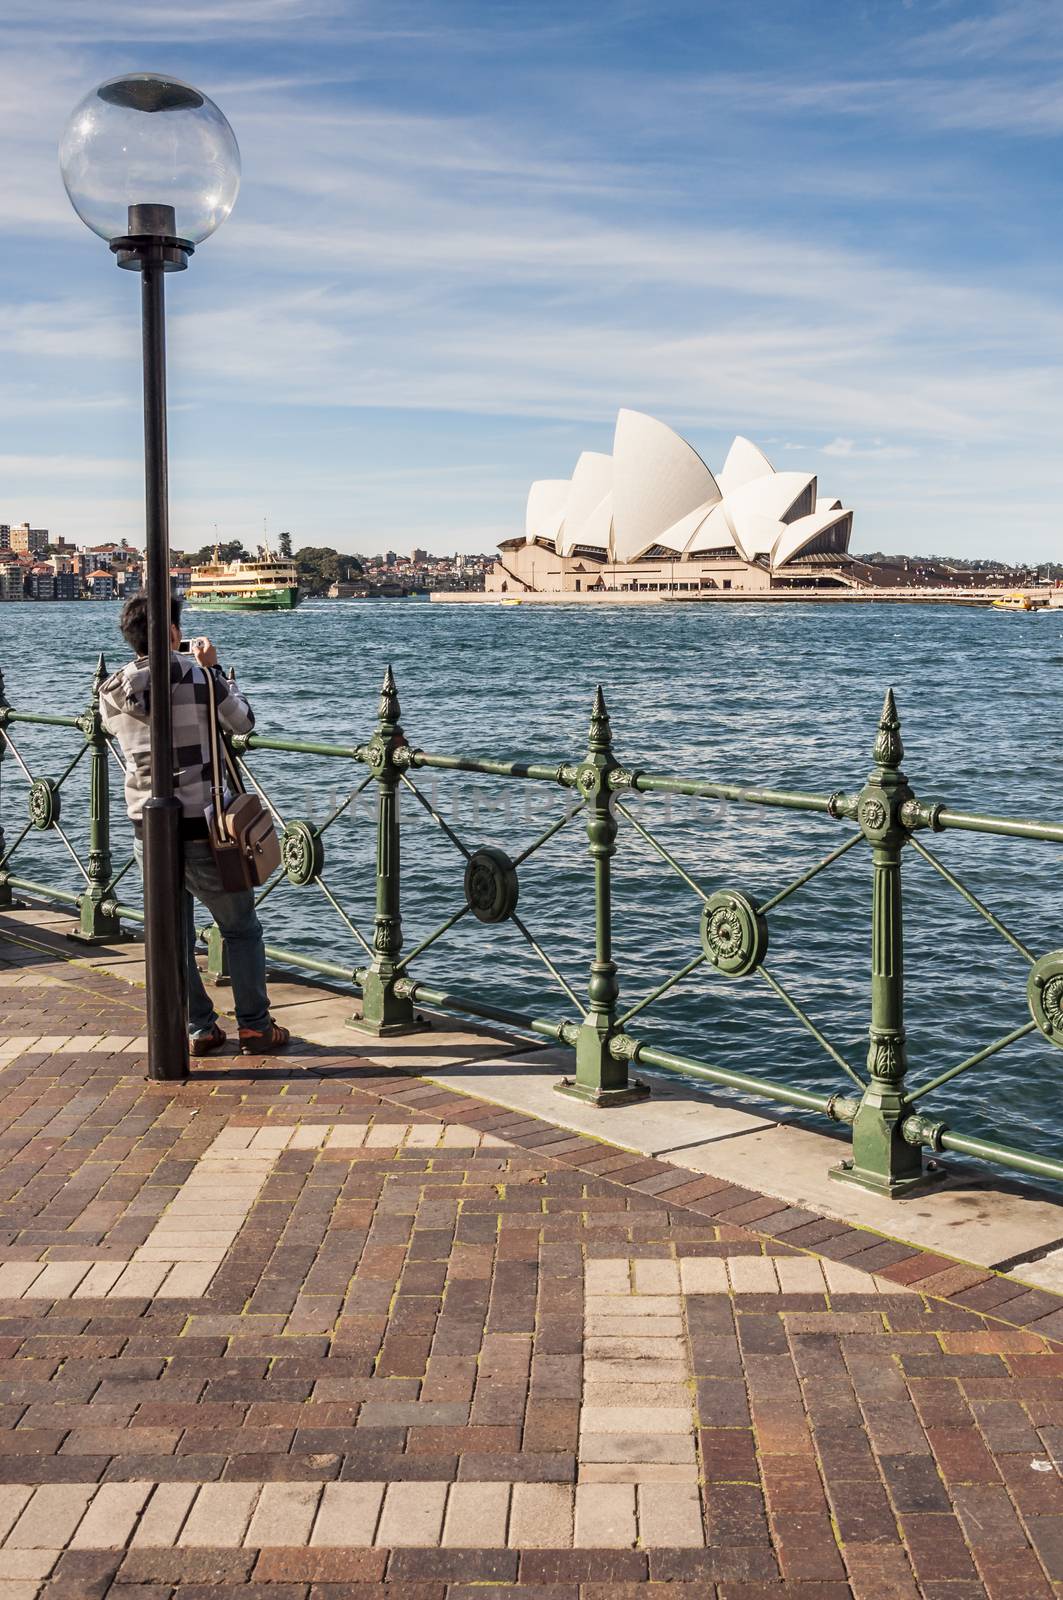
[[[150,72],[110,78],[74,110],[59,165],[70,205],[141,274],[150,798],[144,805],[147,1070],[186,1078],[186,966],[181,803],[174,794],[170,702],[170,507],[166,467],[165,274],[224,222],[240,186],[240,152],[213,101]],[[158,693],[165,685],[165,693]]]

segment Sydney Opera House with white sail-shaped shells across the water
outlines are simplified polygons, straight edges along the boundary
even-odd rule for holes
[[[848,586],[853,514],[813,472],[776,472],[736,438],[717,474],[664,422],[616,418],[612,456],[532,485],[523,536],[504,539],[493,594]]]

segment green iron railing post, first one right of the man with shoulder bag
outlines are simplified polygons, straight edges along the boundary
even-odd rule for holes
[[[397,750],[407,736],[399,717],[399,691],[391,667],[384,674],[379,696],[379,722],[365,747],[368,765],[376,776],[376,917],[373,922],[373,958],[360,974],[362,1016],[349,1019],[363,1034],[410,1034],[416,1029],[413,1003],[395,994],[400,976],[395,963],[402,950],[402,912],[399,891],[399,773]]]

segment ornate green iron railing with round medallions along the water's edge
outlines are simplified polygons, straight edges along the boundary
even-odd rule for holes
[[[93,693],[80,717],[22,712],[6,704],[0,677],[0,773],[5,758],[29,784],[29,821],[6,845],[0,827],[0,907],[13,904],[13,891],[26,891],[45,901],[70,906],[78,923],[72,938],[109,942],[122,934],[122,920],[142,922],[136,906],[117,898],[117,886],[133,859],[115,870],[110,854],[109,826],[109,758],[122,765],[99,720],[99,685],[104,678],[99,659]],[[1063,1181],[1063,1162],[1047,1155],[1015,1149],[988,1139],[959,1133],[943,1120],[925,1117],[919,1102],[932,1091],[964,1072],[978,1067],[1009,1045],[1039,1030],[1044,1038],[1063,1046],[1063,950],[1036,957],[989,910],[961,878],[930,851],[924,834],[951,830],[991,834],[1005,838],[1063,843],[1063,824],[1034,822],[957,811],[937,802],[921,800],[901,771],[903,746],[892,690],[885,694],[874,741],[872,771],[856,794],[826,795],[781,789],[751,789],[736,784],[696,781],[624,766],[613,750],[610,718],[599,688],[591,714],[586,754],[580,760],[536,763],[527,760],[491,760],[445,755],[413,747],[399,722],[400,707],[395,682],[387,669],[373,736],[359,746],[317,744],[303,739],[279,739],[259,733],[235,736],[232,749],[263,800],[272,810],[282,834],[282,867],[261,890],[259,904],[279,885],[314,886],[328,902],[344,934],[363,952],[357,966],[325,962],[296,949],[267,946],[271,960],[296,970],[352,984],[362,994],[360,1014],[351,1018],[354,1029],[391,1035],[415,1032],[419,1026],[416,1006],[427,1005],[447,1013],[501,1022],[554,1043],[572,1046],[575,1072],[557,1086],[562,1093],[596,1106],[616,1106],[647,1096],[648,1086],[631,1077],[631,1067],[674,1072],[704,1083],[740,1090],[746,1094],[776,1101],[805,1112],[818,1112],[852,1128],[852,1157],[832,1168],[832,1176],[887,1195],[901,1195],[929,1178],[924,1150],[951,1150],[978,1160],[994,1162],[1020,1173]],[[66,728],[82,734],[82,744],[58,779],[35,776],[18,749],[14,730],[21,723]],[[285,819],[261,781],[247,763],[251,750],[275,750],[295,755],[323,757],[367,770],[365,778],[333,806],[323,822]],[[88,853],[82,861],[62,827],[61,790],[82,758],[90,765]],[[419,771],[472,773],[525,784],[552,786],[568,790],[568,810],[540,834],[520,854],[511,858],[498,846],[471,850],[440,816],[415,781]],[[376,786],[376,898],[371,938],[351,918],[323,877],[325,834],[370,786]],[[416,949],[403,952],[400,906],[400,824],[399,797],[410,794],[464,859],[463,899]],[[685,795],[695,800],[728,800],[743,806],[780,806],[823,816],[832,824],[855,824],[840,845],[821,861],[807,867],[768,899],[756,901],[738,888],[706,890],[637,818],[631,798],[637,795]],[[583,816],[594,878],[594,958],[591,960],[586,1002],[562,976],[556,962],[517,914],[520,867],[523,862]],[[2,813],[0,813],[2,821]],[[634,1005],[620,1008],[620,984],[613,960],[612,861],[621,821],[629,826],[701,902],[696,949],[684,965],[658,982]],[[77,891],[19,877],[11,862],[32,832],[54,835],[74,858],[83,885]],[[767,963],[768,915],[804,890],[821,872],[829,870],[850,850],[864,843],[871,851],[871,997],[869,1045],[866,1075],[861,1075],[812,1021],[804,1006],[789,994]],[[901,858],[911,850],[925,861],[945,883],[961,894],[989,926],[1028,963],[1026,1000],[1029,1019],[964,1061],[925,1082],[908,1082],[905,1035],[905,970],[901,917]],[[544,965],[564,992],[575,1014],[532,1016],[487,1003],[477,995],[435,987],[415,976],[411,966],[466,917],[485,928],[511,923]],[[224,946],[216,928],[208,930],[208,970],[224,976]],[[693,1056],[656,1046],[632,1032],[632,1021],[661,1000],[698,968],[709,966],[732,981],[759,981],[780,1000],[792,1018],[812,1035],[853,1085],[853,1091],[823,1094],[791,1083],[735,1072]]]

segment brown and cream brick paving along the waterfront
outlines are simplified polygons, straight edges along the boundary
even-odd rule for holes
[[[1052,1296],[18,938],[0,1600],[1063,1594]]]

